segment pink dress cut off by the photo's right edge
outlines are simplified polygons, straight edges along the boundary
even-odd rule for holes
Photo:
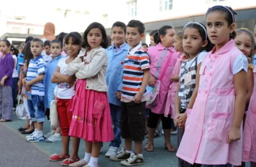
[[[243,132],[242,161],[256,162],[256,66],[253,69],[254,88],[248,107]]]

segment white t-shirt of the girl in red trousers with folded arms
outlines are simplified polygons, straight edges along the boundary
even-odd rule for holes
[[[58,63],[58,67],[60,68],[61,74],[69,75],[67,73],[68,64],[66,64],[66,60],[68,58],[69,56],[64,57],[60,59]],[[75,95],[74,86],[69,85],[69,83],[67,82],[57,83],[56,87],[54,88],[54,95],[60,99],[71,99],[71,97]]]

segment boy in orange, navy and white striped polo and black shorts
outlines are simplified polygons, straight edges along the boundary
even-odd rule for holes
[[[131,20],[127,24],[126,41],[130,49],[124,60],[120,120],[125,149],[110,157],[113,161],[121,161],[124,166],[144,163],[142,141],[145,133],[145,103],[148,99],[146,86],[149,81],[149,56],[140,43],[145,36],[144,30],[144,24],[140,21]]]

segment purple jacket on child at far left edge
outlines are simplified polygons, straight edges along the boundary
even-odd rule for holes
[[[12,58],[11,53],[7,53],[3,58],[3,55],[0,56],[0,81],[7,75],[8,78],[5,80],[4,85],[12,85],[12,73],[14,69],[14,59]]]

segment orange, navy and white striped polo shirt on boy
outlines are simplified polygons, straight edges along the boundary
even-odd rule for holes
[[[141,88],[144,76],[143,70],[149,68],[149,56],[147,51],[141,47],[141,44],[128,52],[124,59],[122,98],[133,100]],[[143,96],[147,93],[147,90],[145,90]]]

